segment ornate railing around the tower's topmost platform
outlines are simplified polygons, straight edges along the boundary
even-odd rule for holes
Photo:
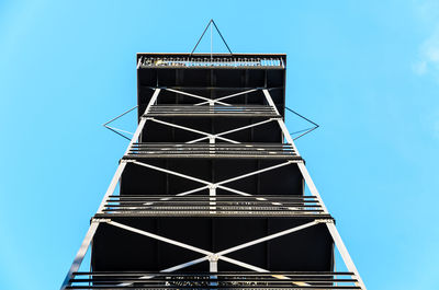
[[[145,57],[137,68],[284,68],[281,57]]]

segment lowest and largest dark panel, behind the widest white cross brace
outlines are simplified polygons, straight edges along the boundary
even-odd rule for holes
[[[270,218],[268,221],[266,218],[215,218],[212,227],[211,218],[113,218],[112,220],[212,252],[312,221],[304,218]],[[266,243],[226,256],[273,271],[329,271],[333,269],[333,241],[325,228],[325,224],[317,224],[272,240],[268,245],[269,256]],[[215,237],[214,246],[212,236]],[[92,250],[92,266],[95,271],[158,271],[203,256],[108,224],[100,227]],[[221,271],[244,270],[224,262],[221,262],[218,267]],[[182,271],[193,270],[206,271],[207,264]]]

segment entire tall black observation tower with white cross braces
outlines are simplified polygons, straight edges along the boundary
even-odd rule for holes
[[[284,125],[285,65],[137,54],[138,127],[61,289],[365,289]]]

